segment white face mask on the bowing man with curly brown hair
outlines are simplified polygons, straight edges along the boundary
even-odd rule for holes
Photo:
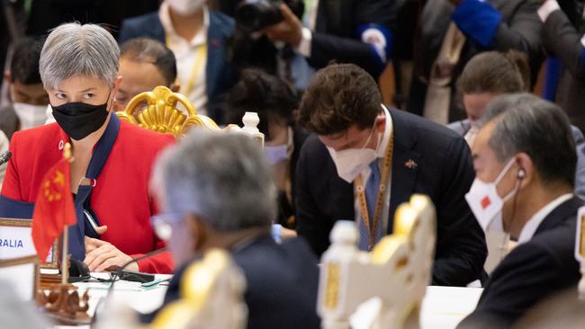
[[[367,168],[367,166],[378,157],[377,150],[378,147],[380,147],[382,138],[378,137],[378,145],[375,150],[372,148],[365,148],[370,142],[373,134],[374,127],[372,128],[370,136],[365,141],[364,146],[361,148],[348,148],[337,152],[333,148],[327,147],[329,155],[331,155],[331,159],[333,159],[333,163],[335,163],[335,166],[338,168],[338,175],[344,181],[349,183],[354,182],[357,175],[362,173],[365,168]]]

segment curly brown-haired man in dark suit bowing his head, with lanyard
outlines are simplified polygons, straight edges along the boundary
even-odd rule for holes
[[[374,79],[351,64],[316,73],[302,98],[300,124],[317,135],[305,142],[297,166],[298,232],[315,253],[327,249],[339,219],[356,220],[360,248],[371,249],[392,233],[396,208],[423,193],[437,207],[433,284],[480,279],[487,251],[464,200],[474,173],[463,138],[386,109]]]

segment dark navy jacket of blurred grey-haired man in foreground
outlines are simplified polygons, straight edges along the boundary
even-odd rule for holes
[[[248,329],[320,328],[319,269],[303,239],[277,245],[270,236],[261,237],[231,256],[246,277]],[[165,305],[180,298],[180,282],[188,265],[175,272],[166,291]]]

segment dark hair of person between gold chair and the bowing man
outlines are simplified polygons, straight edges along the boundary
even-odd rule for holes
[[[271,139],[269,122],[293,125],[293,111],[298,105],[299,97],[291,85],[266,72],[247,69],[229,92],[227,118],[228,122],[239,123],[246,111],[256,111],[260,118],[258,129]]]

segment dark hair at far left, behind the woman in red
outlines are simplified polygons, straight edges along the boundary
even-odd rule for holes
[[[12,81],[21,84],[41,84],[39,73],[40,50],[44,40],[23,38],[14,46],[10,63]]]

